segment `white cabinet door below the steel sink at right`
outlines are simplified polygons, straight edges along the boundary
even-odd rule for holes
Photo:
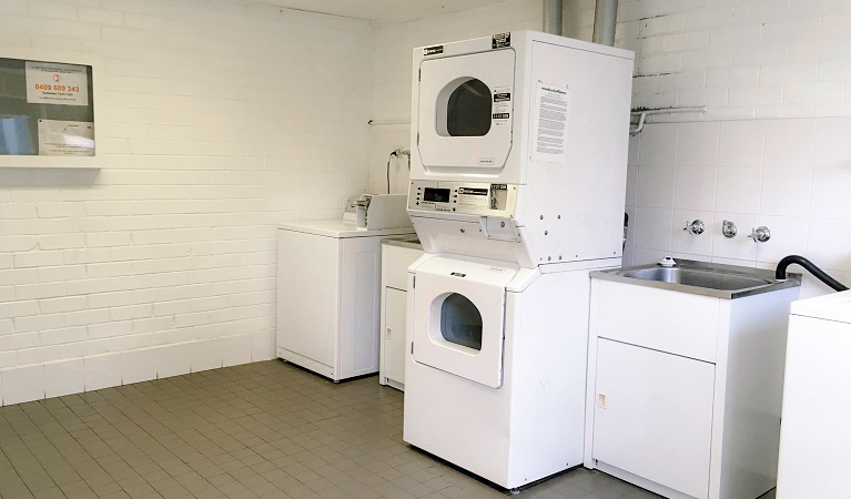
[[[597,342],[594,458],[706,498],[715,365]]]

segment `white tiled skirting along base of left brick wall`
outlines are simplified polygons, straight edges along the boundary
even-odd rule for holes
[[[272,358],[274,330],[9,367],[0,369],[0,404],[9,406]]]

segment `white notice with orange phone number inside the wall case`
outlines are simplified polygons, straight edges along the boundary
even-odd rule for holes
[[[89,77],[84,65],[27,61],[26,72],[30,104],[89,105],[85,91]]]

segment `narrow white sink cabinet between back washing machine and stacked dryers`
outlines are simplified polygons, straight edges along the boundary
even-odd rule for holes
[[[405,389],[408,266],[423,256],[416,237],[382,241],[381,360],[378,383]]]

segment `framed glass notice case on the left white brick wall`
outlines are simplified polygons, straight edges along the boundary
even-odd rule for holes
[[[100,167],[99,58],[0,48],[0,167]]]

